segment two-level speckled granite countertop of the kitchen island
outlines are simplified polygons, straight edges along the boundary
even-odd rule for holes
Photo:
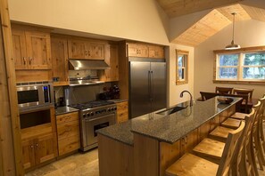
[[[187,107],[169,116],[161,116],[153,112],[128,120],[126,123],[114,124],[97,132],[128,145],[133,145],[133,132],[174,143],[241,100],[235,97],[232,99],[234,101],[230,104],[219,104],[217,97],[206,101],[196,101],[193,107]]]

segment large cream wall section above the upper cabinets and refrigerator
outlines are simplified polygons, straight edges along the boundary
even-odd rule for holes
[[[169,44],[155,0],[9,0],[10,19],[52,28]]]

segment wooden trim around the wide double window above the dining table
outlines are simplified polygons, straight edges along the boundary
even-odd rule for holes
[[[252,53],[252,52],[265,52],[265,46],[254,46],[254,47],[246,47],[241,48],[237,50],[215,50],[213,51],[214,54],[214,65],[213,65],[213,83],[219,83],[219,84],[265,84],[265,80],[259,80],[259,79],[243,79],[242,76],[242,69],[243,66],[243,60],[244,60],[244,54],[245,53]],[[219,54],[239,54],[239,62],[237,66],[237,79],[217,79],[218,74],[218,65],[217,61],[219,60]],[[230,67],[229,67],[230,68]],[[232,67],[231,67],[232,68]]]

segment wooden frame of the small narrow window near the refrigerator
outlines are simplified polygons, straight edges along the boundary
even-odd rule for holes
[[[176,84],[188,84],[188,51],[184,50],[176,50]],[[182,69],[184,69],[184,79],[178,79],[178,57],[180,55],[183,55],[184,60],[184,67],[182,66]]]

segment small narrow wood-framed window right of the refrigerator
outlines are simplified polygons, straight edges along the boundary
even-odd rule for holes
[[[187,84],[187,57],[188,52],[177,50],[176,59],[176,84]]]

